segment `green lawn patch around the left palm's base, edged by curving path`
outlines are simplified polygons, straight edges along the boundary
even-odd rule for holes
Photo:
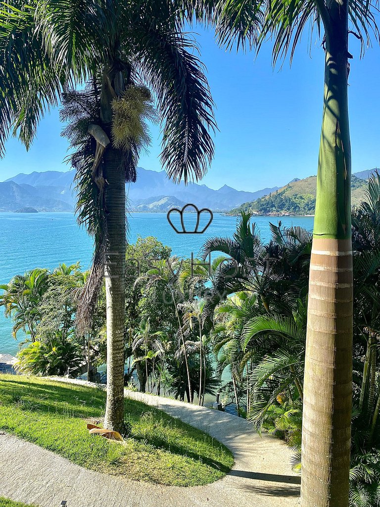
[[[101,389],[0,375],[0,428],[85,468],[199,486],[220,479],[233,465],[231,452],[207,433],[134,400],[125,400],[132,431],[123,444],[90,435],[87,422],[101,421],[104,408]]]

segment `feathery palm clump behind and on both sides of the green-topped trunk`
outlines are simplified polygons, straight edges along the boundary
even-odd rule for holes
[[[284,438],[300,470],[303,370],[311,234],[272,225],[261,245],[251,215],[242,212],[234,240],[214,238],[204,246],[234,259],[232,278],[213,286],[214,295],[234,294],[215,306],[215,350],[234,383],[246,388],[247,417],[258,431]],[[370,179],[366,200],[352,210],[354,258],[354,377],[350,502],[380,505],[380,176]],[[270,262],[269,262],[270,260]],[[234,378],[235,377],[235,378]],[[318,389],[318,386],[316,386]],[[239,392],[237,390],[237,392]],[[243,393],[243,391],[240,391]],[[239,400],[238,395],[237,403]]]

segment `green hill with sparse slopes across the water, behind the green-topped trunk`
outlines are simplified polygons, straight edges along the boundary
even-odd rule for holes
[[[353,205],[359,205],[364,199],[368,182],[352,175],[351,199]],[[239,214],[241,210],[252,211],[259,215],[312,215],[315,211],[317,176],[296,179],[285,187],[276,190],[255,201],[245,202],[234,208],[229,214]]]

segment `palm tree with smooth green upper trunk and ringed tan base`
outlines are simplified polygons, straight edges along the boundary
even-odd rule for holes
[[[235,41],[238,46],[248,42],[259,50],[272,38],[274,63],[289,51],[292,60],[306,27],[324,32],[324,105],[309,282],[301,505],[346,507],[353,337],[349,34],[356,35],[362,50],[369,44],[371,32],[377,39],[377,9],[371,0],[222,0],[203,4],[203,16],[216,21],[221,44],[232,47]],[[247,28],[246,37],[237,37],[237,27],[242,26]]]

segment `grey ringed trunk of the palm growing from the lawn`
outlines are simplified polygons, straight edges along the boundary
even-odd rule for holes
[[[124,426],[125,174],[119,150],[103,158],[108,244],[105,259],[107,317],[107,403],[104,427]]]

